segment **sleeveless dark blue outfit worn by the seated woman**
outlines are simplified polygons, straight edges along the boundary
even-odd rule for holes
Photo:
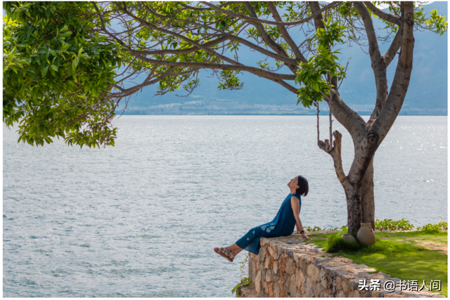
[[[298,198],[301,208],[302,200],[300,199],[300,195],[289,194],[283,201],[283,204],[281,204],[274,220],[250,229],[250,231],[241,237],[236,244],[242,249],[248,250],[253,254],[258,254],[259,248],[261,247],[259,245],[261,237],[283,237],[292,235],[296,223],[293,208],[290,206],[290,198],[293,196]]]

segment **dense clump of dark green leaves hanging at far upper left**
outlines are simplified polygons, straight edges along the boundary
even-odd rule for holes
[[[114,145],[105,97],[120,66],[115,44],[93,32],[86,2],[4,2],[4,122],[19,141]]]

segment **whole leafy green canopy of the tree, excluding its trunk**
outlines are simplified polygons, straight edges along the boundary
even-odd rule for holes
[[[387,4],[400,14],[398,2]],[[425,15],[420,5],[416,27],[445,32],[445,18]],[[219,89],[242,89],[238,75],[250,72],[293,91],[297,104],[317,105],[345,78],[335,47],[366,42],[361,16],[352,2],[342,2],[323,11],[323,28],[315,30],[311,19],[283,27],[267,23],[274,7],[284,12],[283,22],[312,13],[304,1],[4,2],[4,123],[19,123],[19,141],[31,145],[52,138],[114,145],[110,121],[121,100],[151,84],[159,95],[189,94],[203,69],[216,75]],[[248,20],[255,15],[260,22]],[[398,27],[387,24],[385,39]],[[287,29],[304,32],[300,46]],[[270,59],[245,65],[244,46]],[[276,73],[285,65],[292,74]],[[146,79],[136,84],[140,74]]]

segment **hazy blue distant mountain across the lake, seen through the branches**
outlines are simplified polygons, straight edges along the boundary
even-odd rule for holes
[[[447,17],[447,3],[437,1],[429,4],[425,11],[436,9]],[[383,28],[383,23],[374,20],[375,28]],[[447,33],[439,36],[430,31],[416,31],[414,46],[413,74],[406,94],[401,115],[447,115]],[[299,37],[300,38],[300,35]],[[380,44],[385,53],[388,44]],[[241,49],[240,61],[253,64],[263,58],[259,53]],[[364,49],[366,51],[366,49]],[[362,115],[370,115],[375,103],[375,79],[371,60],[358,45],[343,46],[340,63],[349,61],[347,79],[340,87],[342,99],[352,109]],[[351,59],[349,59],[351,58]],[[387,69],[387,79],[394,77],[397,58]],[[289,72],[289,71],[285,71]],[[156,86],[149,86],[141,93],[131,96],[126,115],[184,115],[184,114],[313,114],[296,106],[296,96],[282,86],[259,78],[253,74],[240,75],[244,88],[238,91],[220,91],[217,78],[210,78],[210,72],[200,73],[201,85],[185,97],[175,94],[186,93],[179,90],[164,96],[153,96]],[[139,81],[139,80],[138,80]],[[390,83],[389,83],[390,84]],[[122,104],[121,107],[124,107]],[[322,112],[328,110],[322,105]]]

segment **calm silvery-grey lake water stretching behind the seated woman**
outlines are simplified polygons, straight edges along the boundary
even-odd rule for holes
[[[232,296],[239,264],[212,248],[273,219],[298,174],[304,226],[347,221],[315,117],[115,124],[116,146],[101,149],[33,148],[4,126],[4,296]],[[347,171],[352,142],[336,129]],[[397,118],[374,164],[376,218],[447,221],[447,117]]]

